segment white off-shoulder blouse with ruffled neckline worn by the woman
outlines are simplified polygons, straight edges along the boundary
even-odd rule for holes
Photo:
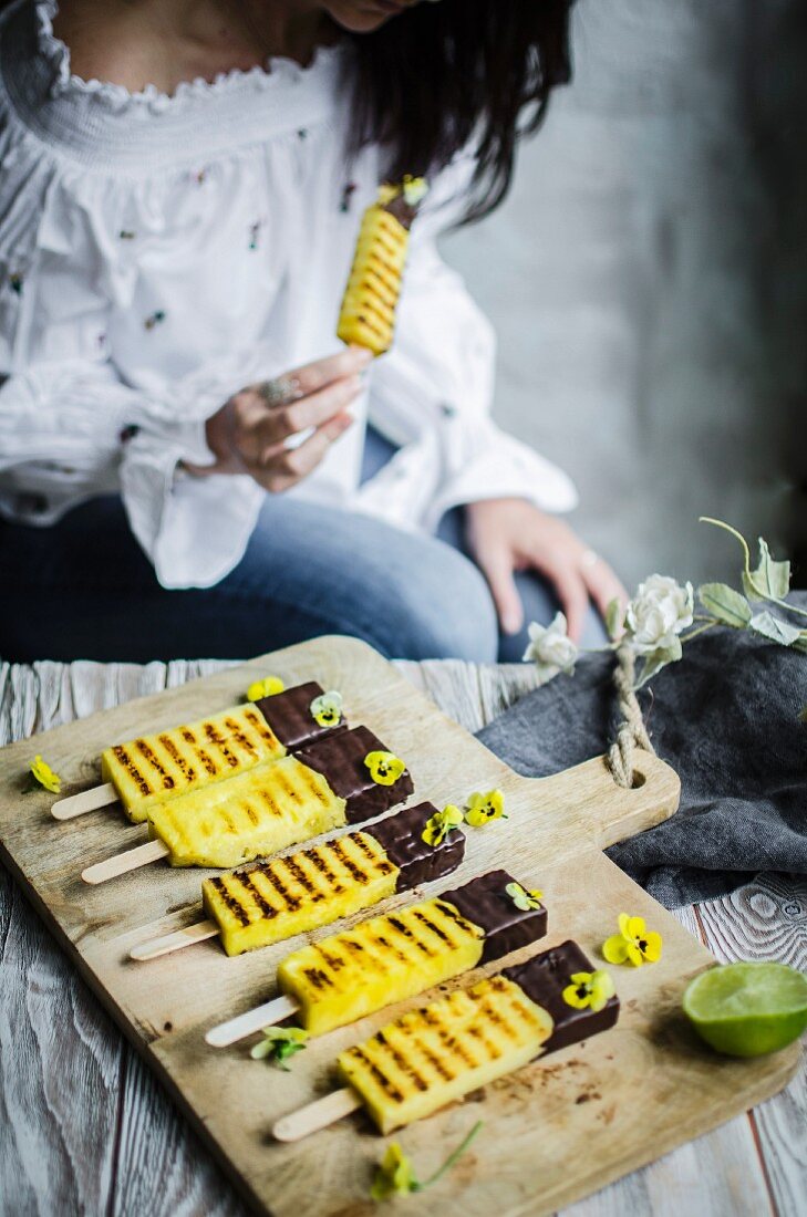
[[[0,512],[50,525],[119,493],[167,588],[240,561],[264,490],[212,462],[236,391],[338,349],[336,319],[379,148],[343,152],[351,46],[273,58],[167,96],[71,74],[56,0],[0,19]],[[433,531],[452,506],[575,505],[564,472],[489,417],[492,327],[436,236],[472,162],[421,211],[392,350],[355,422],[293,497]],[[359,486],[368,417],[400,447]]]

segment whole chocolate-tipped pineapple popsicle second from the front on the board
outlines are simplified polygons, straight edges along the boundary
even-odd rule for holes
[[[537,942],[547,910],[538,901],[516,904],[509,886],[527,896],[505,870],[493,870],[295,950],[278,969],[285,996],[213,1028],[208,1044],[223,1048],[292,1014],[321,1036]]]

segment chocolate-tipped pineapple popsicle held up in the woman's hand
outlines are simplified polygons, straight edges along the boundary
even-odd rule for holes
[[[428,186],[424,178],[383,185],[365,211],[336,335],[382,355],[392,346],[409,229]]]

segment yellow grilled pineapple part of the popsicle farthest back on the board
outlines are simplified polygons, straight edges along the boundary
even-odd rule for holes
[[[197,723],[107,748],[101,755],[101,776],[112,783],[127,815],[138,824],[157,803],[285,753],[254,706],[235,706]]]

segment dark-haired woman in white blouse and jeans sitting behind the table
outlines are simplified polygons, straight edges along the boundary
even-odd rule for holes
[[[621,594],[554,515],[566,476],[491,422],[491,327],[435,248],[506,192],[566,22],[566,0],[9,6],[5,658],[330,632],[517,658],[527,619],[560,604],[581,636]],[[370,366],[335,321],[360,213],[404,173],[432,190]]]

